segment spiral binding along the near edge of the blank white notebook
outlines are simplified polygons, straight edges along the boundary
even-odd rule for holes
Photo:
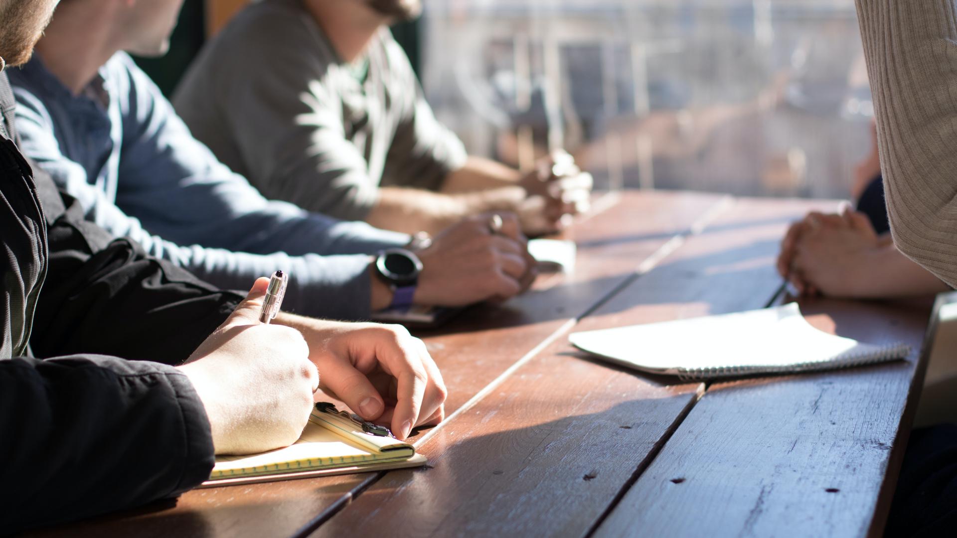
[[[738,377],[752,373],[800,373],[805,371],[839,370],[902,359],[910,355],[910,350],[910,345],[904,344],[903,342],[896,342],[880,347],[878,351],[865,349],[855,351],[852,349],[826,361],[809,362],[787,367],[759,365],[679,369],[678,378],[681,381],[701,381],[702,379]]]

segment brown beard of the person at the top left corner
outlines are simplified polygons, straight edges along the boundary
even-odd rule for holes
[[[55,6],[56,0],[0,0],[0,57],[7,65],[30,60]]]

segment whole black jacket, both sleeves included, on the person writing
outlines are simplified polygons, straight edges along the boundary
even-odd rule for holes
[[[83,220],[19,154],[11,103],[0,73],[0,534],[208,478],[210,424],[189,379],[127,359],[184,361],[241,300]],[[15,358],[31,347],[89,354]]]

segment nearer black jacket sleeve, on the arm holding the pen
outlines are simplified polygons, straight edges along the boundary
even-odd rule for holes
[[[209,478],[186,375],[84,355],[0,360],[0,534],[173,497]]]

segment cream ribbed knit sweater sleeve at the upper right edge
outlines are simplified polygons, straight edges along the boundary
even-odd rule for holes
[[[957,286],[955,0],[856,0],[894,242]]]

